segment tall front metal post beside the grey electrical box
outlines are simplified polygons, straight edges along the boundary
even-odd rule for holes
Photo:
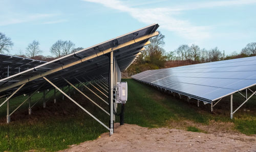
[[[114,133],[114,117],[113,117],[113,51],[110,52],[110,136]]]

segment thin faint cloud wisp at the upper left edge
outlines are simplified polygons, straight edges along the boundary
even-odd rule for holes
[[[27,23],[30,21],[36,21],[40,19],[50,18],[54,16],[58,16],[59,14],[16,14],[16,13],[8,13],[6,16],[0,17],[0,26],[7,26],[12,24],[20,24]]]

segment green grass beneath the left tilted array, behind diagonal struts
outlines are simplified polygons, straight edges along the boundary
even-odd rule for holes
[[[53,91],[50,91],[46,99],[52,95]],[[36,93],[32,97],[32,104],[41,96],[42,93]],[[80,101],[81,96],[73,97],[98,119],[108,124],[109,117],[99,112],[97,107]],[[10,112],[26,98],[19,96],[11,99]],[[3,99],[0,103],[2,101]],[[42,108],[42,101],[38,102],[32,108],[32,115],[28,115],[28,103],[25,103],[14,113],[14,116],[11,116],[10,124],[6,124],[6,104],[5,107],[0,108],[0,114],[0,151],[28,151],[31,149],[57,151],[68,148],[68,145],[96,139],[100,134],[108,131],[74,103],[62,100],[61,96],[58,96],[56,104],[53,104],[53,99],[49,100],[46,109]],[[14,118],[15,121],[12,121]]]

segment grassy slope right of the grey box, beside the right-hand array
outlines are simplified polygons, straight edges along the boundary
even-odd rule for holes
[[[234,115],[234,119],[230,120],[229,111],[220,110],[225,113],[211,114],[207,110],[202,110],[201,107],[196,107],[195,104],[191,105],[173,96],[166,95],[133,79],[124,79],[124,81],[129,84],[129,98],[125,105],[126,123],[158,127],[165,126],[170,119],[175,121],[192,120],[203,124],[215,120],[233,122],[240,132],[247,135],[256,134],[255,113],[252,115],[243,113],[241,109]],[[248,102],[247,104],[255,106],[254,102]]]

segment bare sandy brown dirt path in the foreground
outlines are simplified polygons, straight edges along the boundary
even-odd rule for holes
[[[118,124],[115,124],[118,126]],[[243,134],[204,134],[180,129],[140,127],[125,124],[113,136],[102,134],[61,152],[75,151],[256,151],[256,136]]]

